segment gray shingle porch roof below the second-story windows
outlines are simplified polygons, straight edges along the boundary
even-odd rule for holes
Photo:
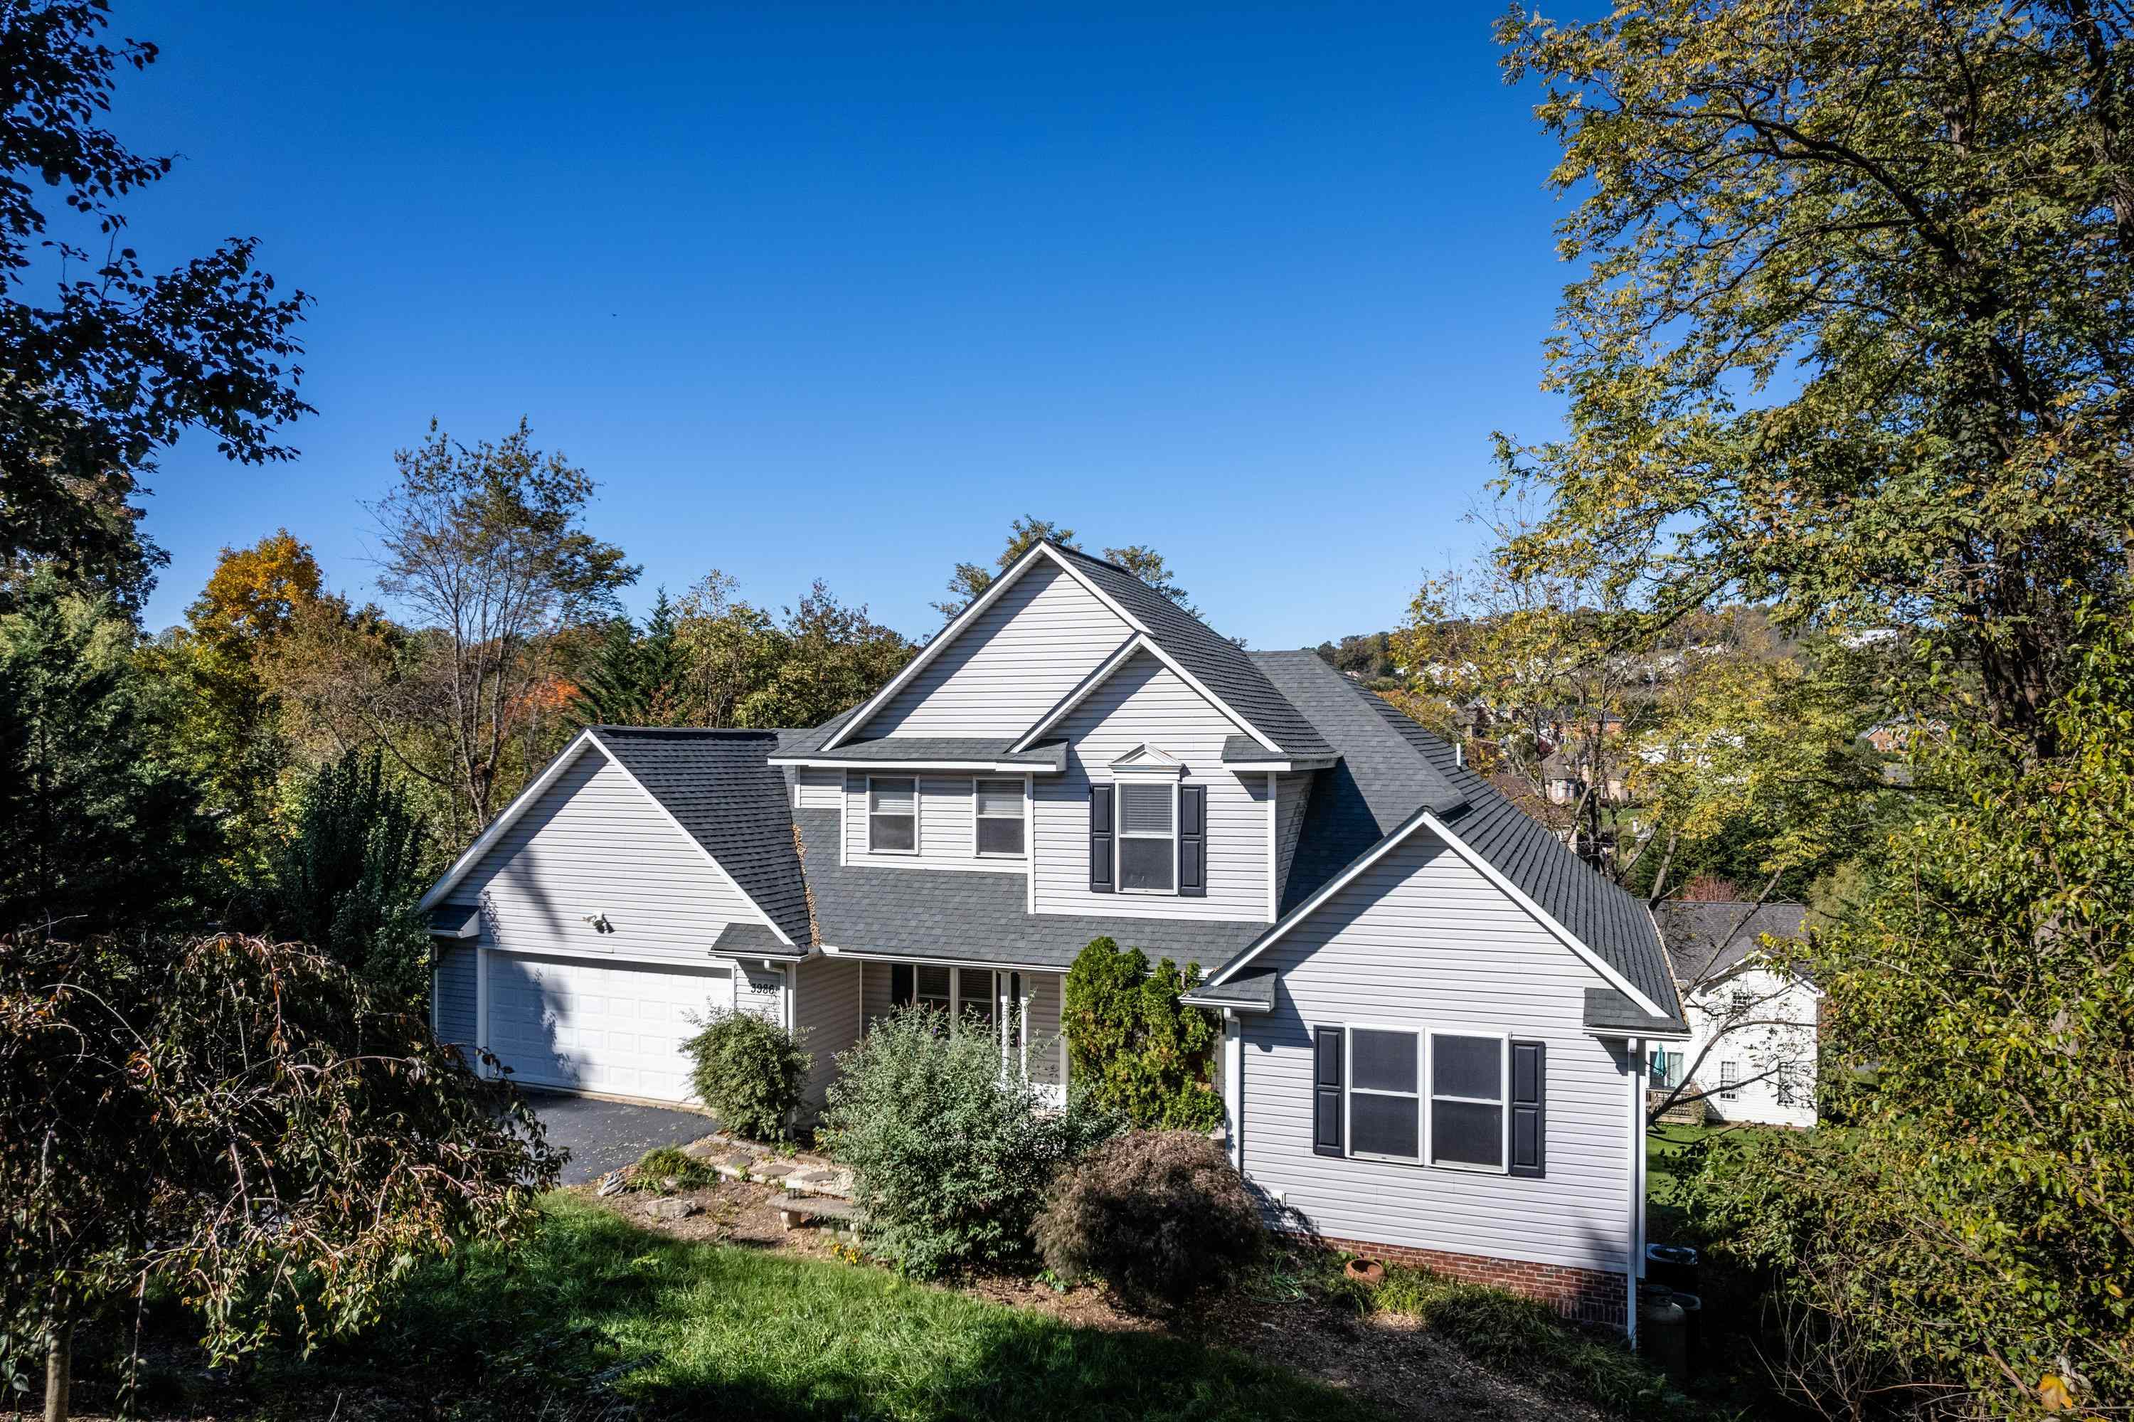
[[[1248,944],[1263,922],[1195,922],[1180,918],[1097,918],[1029,914],[1020,873],[939,873],[837,863],[834,809],[798,809],[809,850],[822,942],[843,952],[879,952],[971,963],[1069,967],[1093,937],[1114,937],[1176,963],[1221,963]]]

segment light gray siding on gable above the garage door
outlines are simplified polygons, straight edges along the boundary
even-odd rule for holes
[[[753,905],[651,799],[589,745],[452,892],[510,952],[704,963]],[[600,933],[585,914],[604,914]]]

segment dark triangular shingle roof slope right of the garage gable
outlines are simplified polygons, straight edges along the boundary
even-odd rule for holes
[[[593,737],[802,950],[807,886],[775,730],[593,726]]]

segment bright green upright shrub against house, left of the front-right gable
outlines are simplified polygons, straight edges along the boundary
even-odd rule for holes
[[[1090,1100],[1144,1129],[1212,1132],[1223,1097],[1210,1085],[1223,1027],[1214,1012],[1178,995],[1199,982],[1169,959],[1150,969],[1140,948],[1110,937],[1084,948],[1067,971],[1061,1025],[1073,1080]]]

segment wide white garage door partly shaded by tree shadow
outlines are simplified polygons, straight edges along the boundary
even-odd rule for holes
[[[489,954],[489,1050],[534,1087],[681,1102],[691,1016],[730,1008],[732,971]]]

